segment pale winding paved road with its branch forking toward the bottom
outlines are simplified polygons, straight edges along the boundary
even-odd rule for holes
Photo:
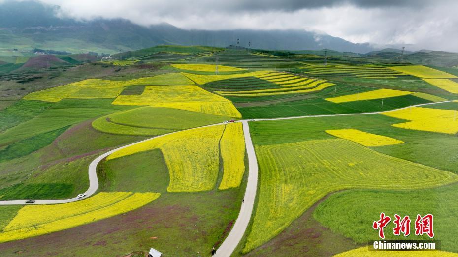
[[[442,101],[442,102],[435,102],[435,103],[425,103],[425,104],[418,104],[418,105],[412,105],[412,106],[407,106],[399,109],[394,109],[394,110],[387,110],[387,111],[379,111],[379,112],[371,112],[371,113],[357,113],[357,114],[325,114],[325,115],[310,115],[310,116],[295,116],[295,117],[286,117],[286,118],[265,118],[265,119],[244,119],[244,120],[238,120],[236,122],[242,122],[243,124],[243,132],[244,132],[244,137],[245,137],[245,147],[247,150],[248,154],[248,163],[249,163],[249,170],[248,170],[248,182],[247,182],[247,188],[245,191],[245,202],[242,204],[240,208],[240,213],[237,217],[237,220],[235,221],[235,224],[233,228],[230,230],[228,237],[224,240],[224,242],[221,244],[221,246],[217,250],[217,257],[229,257],[234,249],[237,247],[238,243],[243,237],[243,234],[245,233],[246,228],[248,227],[248,224],[251,219],[251,215],[253,212],[253,207],[255,203],[255,198],[256,198],[256,190],[258,187],[258,162],[256,160],[256,154],[255,150],[253,147],[253,143],[251,141],[251,136],[250,136],[250,130],[248,127],[248,121],[263,121],[263,120],[284,120],[284,119],[297,119],[297,118],[311,118],[311,117],[335,117],[335,116],[352,116],[352,115],[367,115],[367,114],[381,114],[385,112],[391,112],[391,111],[397,111],[397,110],[404,110],[412,107],[419,107],[419,106],[426,106],[426,105],[433,105],[433,104],[440,104],[440,103],[449,103],[449,102],[455,102],[456,100],[449,100],[449,101]],[[203,127],[210,127],[210,126],[217,126],[221,125],[222,123],[216,123],[216,124],[211,124],[207,126],[202,126],[199,128]],[[178,131],[177,131],[178,132]],[[94,161],[91,162],[89,165],[89,188],[85,192],[86,196],[81,199],[88,198],[92,196],[94,193],[96,193],[98,189],[98,178],[97,178],[97,165],[98,163],[105,158],[106,156],[121,150],[123,148],[132,146],[137,143],[142,143],[145,141],[149,141],[155,138],[159,137],[164,137],[169,134],[177,133],[177,132],[172,132],[160,136],[156,136],[153,138],[149,138],[143,141],[131,143],[128,145],[121,146],[119,148],[113,149],[111,151],[108,151],[100,156],[98,156]],[[34,204],[59,204],[59,203],[67,203],[67,202],[73,202],[77,200],[81,200],[78,198],[70,198],[70,199],[60,199],[60,200],[36,200]],[[5,201],[0,201],[0,205],[24,205],[25,202],[24,200],[5,200]]]

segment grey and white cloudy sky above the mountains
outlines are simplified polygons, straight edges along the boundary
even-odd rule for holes
[[[354,43],[458,52],[458,0],[40,0],[78,19],[184,29],[306,29]]]

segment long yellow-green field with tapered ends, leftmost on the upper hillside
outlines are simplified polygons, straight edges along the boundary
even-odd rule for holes
[[[87,79],[64,86],[53,87],[30,93],[26,100],[58,102],[62,99],[98,99],[115,98],[126,86],[131,85],[192,85],[194,84],[180,73],[167,73],[154,77],[144,77],[127,81]]]

